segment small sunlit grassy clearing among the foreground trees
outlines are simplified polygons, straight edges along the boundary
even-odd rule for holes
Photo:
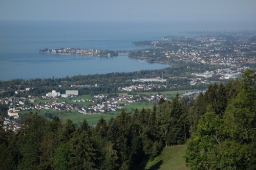
[[[182,154],[185,153],[186,145],[176,145],[163,149],[161,155],[153,161],[148,161],[145,169],[159,170],[186,170],[189,169],[185,165]]]

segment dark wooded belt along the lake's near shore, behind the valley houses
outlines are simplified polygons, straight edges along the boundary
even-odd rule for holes
[[[79,94],[99,94],[99,93],[115,93],[119,92],[118,87],[125,87],[139,84],[140,82],[132,82],[132,79],[137,78],[154,78],[162,77],[167,79],[165,83],[158,83],[166,85],[166,88],[154,88],[148,90],[148,92],[154,91],[169,91],[170,87],[172,90],[184,90],[184,89],[206,89],[207,85],[198,84],[195,86],[189,85],[188,79],[182,79],[179,77],[190,78],[189,74],[192,72],[203,72],[206,70],[215,70],[224,66],[217,65],[206,65],[198,63],[185,63],[180,62],[179,65],[166,67],[157,70],[140,70],[135,72],[112,72],[109,74],[96,74],[96,75],[77,75],[73,77],[66,76],[64,78],[48,78],[48,79],[14,79],[10,81],[0,81],[0,98],[16,96],[16,97],[26,97],[28,95],[32,96],[42,96],[46,93],[52,91],[53,89],[59,91],[60,93],[65,93],[65,90],[78,89]],[[187,72],[187,75],[184,74]],[[177,77],[176,79],[169,79]],[[155,82],[156,83],[156,82]],[[97,87],[71,87],[71,85],[95,85]],[[175,84],[175,87],[173,87]],[[61,86],[61,87],[59,87]],[[31,88],[26,93],[15,94],[17,90],[25,90],[26,88]]]

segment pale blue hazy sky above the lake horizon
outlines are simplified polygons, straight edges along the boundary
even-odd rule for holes
[[[256,22],[256,0],[1,0],[0,19]]]

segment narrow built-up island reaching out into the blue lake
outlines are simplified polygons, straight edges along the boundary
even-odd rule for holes
[[[40,49],[39,53],[53,54],[73,54],[73,55],[89,55],[89,56],[117,56],[118,53],[109,50],[93,50],[93,49],[75,49],[75,48],[59,48],[49,50],[48,48]]]

